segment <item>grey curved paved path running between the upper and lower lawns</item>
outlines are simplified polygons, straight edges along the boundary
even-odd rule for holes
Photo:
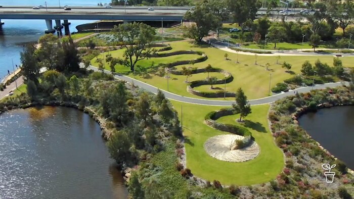
[[[83,67],[83,64],[81,63],[81,67]],[[99,71],[98,68],[94,67],[94,66],[90,66],[89,69],[92,69],[94,71]],[[105,73],[111,74],[110,71],[105,70]],[[158,88],[155,86],[152,86],[150,84],[147,84],[145,82],[136,80],[134,78],[116,73],[114,75],[115,78],[126,81],[128,83],[132,83],[134,85],[137,85],[141,88],[144,88],[145,90],[152,92],[152,93],[157,93]],[[341,85],[349,85],[349,82],[336,82],[336,83],[326,83],[326,84],[318,84],[314,86],[314,89],[323,89],[326,87],[337,87],[337,86],[341,86]],[[269,97],[263,97],[263,98],[259,98],[259,99],[255,99],[255,100],[249,100],[249,104],[250,105],[262,105],[262,104],[269,104],[269,103],[273,103],[277,100],[279,100],[280,98],[286,97],[286,96],[290,96],[290,95],[294,95],[295,92],[297,91],[298,93],[302,93],[302,92],[308,92],[312,89],[312,86],[307,86],[307,87],[302,87],[302,88],[297,88],[288,92],[284,92],[284,93],[279,93],[279,94],[275,94]],[[174,94],[171,92],[168,92],[166,90],[162,90],[160,89],[165,96],[170,99],[170,100],[174,100],[174,101],[179,101],[179,102],[184,102],[184,103],[190,103],[190,104],[198,104],[198,105],[208,105],[208,106],[232,106],[233,103],[235,103],[234,101],[217,101],[217,100],[204,100],[204,99],[198,99],[198,98],[192,98],[192,97],[186,97],[186,96],[182,96],[179,94]]]

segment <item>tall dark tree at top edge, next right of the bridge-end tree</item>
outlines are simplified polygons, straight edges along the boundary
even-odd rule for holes
[[[226,5],[232,13],[233,21],[240,25],[243,35],[247,20],[255,19],[260,6],[257,5],[256,0],[227,0]]]

